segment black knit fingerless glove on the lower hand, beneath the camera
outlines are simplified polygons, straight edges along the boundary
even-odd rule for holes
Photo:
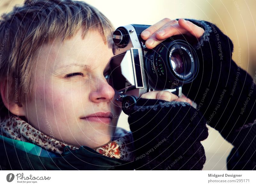
[[[201,141],[208,136],[202,115],[184,102],[142,99],[128,122],[134,138],[136,170],[201,170]]]

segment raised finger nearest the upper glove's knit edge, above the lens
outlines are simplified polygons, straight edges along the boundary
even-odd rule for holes
[[[187,21],[185,19],[179,19],[179,25],[180,27],[187,30],[191,35],[195,36],[197,39],[200,39],[200,37],[204,34],[204,29],[201,27],[198,27],[194,23]]]

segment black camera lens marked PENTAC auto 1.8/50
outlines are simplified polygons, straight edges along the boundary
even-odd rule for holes
[[[198,74],[196,52],[183,40],[160,43],[145,57],[149,80],[158,89],[178,88]]]

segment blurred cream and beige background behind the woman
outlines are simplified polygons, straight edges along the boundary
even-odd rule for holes
[[[22,0],[0,0],[0,13],[9,12]],[[256,71],[256,1],[255,0],[87,0],[103,12],[115,27],[136,23],[154,24],[165,17],[192,18],[212,21],[234,43],[233,59],[249,74]],[[129,129],[127,117],[121,115],[118,126]],[[232,145],[209,127],[209,137],[203,141],[206,152],[204,170],[226,170],[226,159]]]

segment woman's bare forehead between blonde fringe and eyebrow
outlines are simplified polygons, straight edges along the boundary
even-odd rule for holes
[[[99,66],[113,56],[112,48],[109,43],[104,43],[99,31],[89,30],[84,39],[81,35],[82,29],[64,42],[56,39],[51,45],[43,45],[38,61],[58,69],[69,64]]]

